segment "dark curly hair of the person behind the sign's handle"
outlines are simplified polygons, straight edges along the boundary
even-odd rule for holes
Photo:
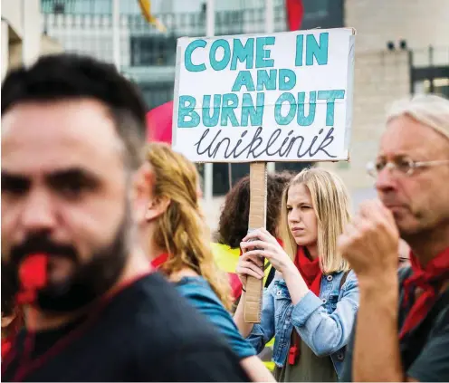
[[[276,235],[281,214],[282,191],[293,174],[288,171],[269,174],[267,177],[267,222],[266,229]],[[218,242],[232,248],[240,243],[248,233],[250,215],[250,177],[241,178],[228,192],[224,200],[218,223]]]

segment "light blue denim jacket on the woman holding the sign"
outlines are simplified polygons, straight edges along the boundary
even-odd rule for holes
[[[337,375],[345,359],[346,345],[358,311],[358,281],[349,272],[346,281],[340,282],[344,273],[323,275],[320,298],[313,292],[296,305],[291,303],[287,284],[276,277],[263,292],[261,323],[255,324],[247,340],[257,352],[275,335],[272,360],[282,367],[290,349],[291,331],[294,328],[312,351],[319,357],[330,355]]]

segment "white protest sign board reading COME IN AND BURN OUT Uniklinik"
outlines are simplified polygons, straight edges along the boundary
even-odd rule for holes
[[[353,30],[181,38],[174,148],[194,161],[348,158]]]

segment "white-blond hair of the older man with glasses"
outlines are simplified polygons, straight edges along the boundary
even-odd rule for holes
[[[443,97],[420,94],[396,101],[387,113],[387,121],[400,116],[409,116],[449,139],[449,100]]]

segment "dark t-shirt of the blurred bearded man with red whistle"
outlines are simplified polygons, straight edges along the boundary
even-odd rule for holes
[[[158,273],[58,329],[20,332],[2,381],[250,381],[205,318]]]

